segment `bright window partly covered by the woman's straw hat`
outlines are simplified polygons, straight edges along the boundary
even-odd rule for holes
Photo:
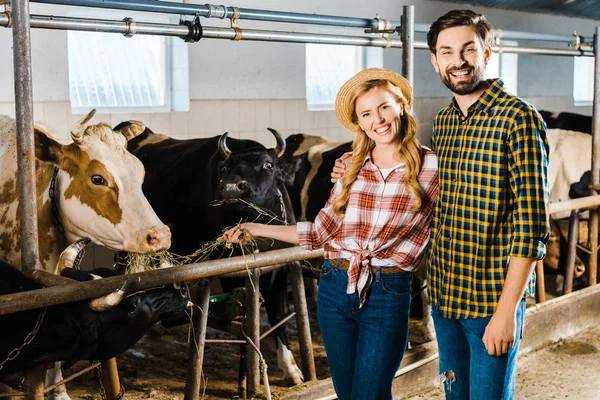
[[[381,67],[383,49],[325,44],[306,45],[306,105],[308,110],[333,110],[335,96],[358,71]]]

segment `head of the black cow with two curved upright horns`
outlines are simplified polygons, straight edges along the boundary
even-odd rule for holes
[[[218,198],[226,203],[243,199],[259,206],[273,198],[282,180],[279,157],[286,144],[276,130],[269,128],[269,131],[277,141],[274,149],[254,147],[232,152],[227,146],[227,133],[221,136],[219,152],[225,160],[219,163]]]

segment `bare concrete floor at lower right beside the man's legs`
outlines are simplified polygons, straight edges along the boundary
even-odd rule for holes
[[[424,399],[443,400],[441,386],[409,398]],[[516,399],[600,400],[600,323],[521,356]]]

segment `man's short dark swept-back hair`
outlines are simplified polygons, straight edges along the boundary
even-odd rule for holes
[[[492,43],[494,28],[492,28],[492,25],[485,19],[483,14],[477,14],[471,10],[452,10],[431,24],[429,32],[427,32],[427,45],[433,54],[435,54],[435,47],[440,32],[455,26],[472,26],[482,45]]]

